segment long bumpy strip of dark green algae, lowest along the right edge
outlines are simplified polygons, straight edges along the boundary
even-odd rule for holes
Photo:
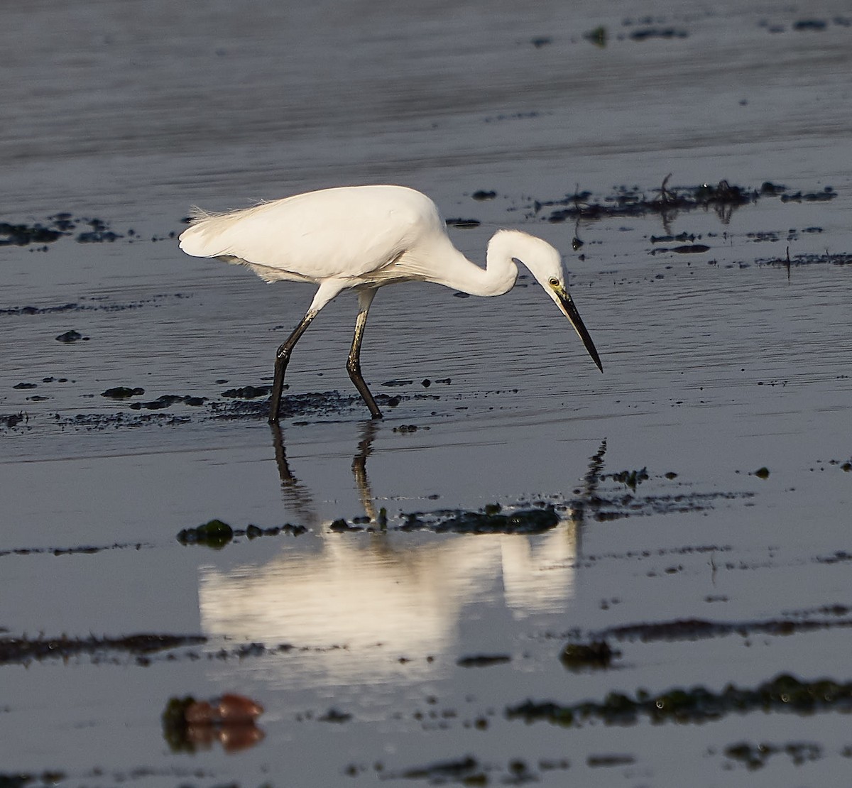
[[[757,687],[728,684],[716,693],[706,687],[675,687],[652,695],[642,689],[635,695],[609,693],[602,701],[587,700],[562,705],[552,701],[527,700],[506,709],[510,720],[546,721],[568,728],[598,720],[607,725],[630,725],[647,717],[651,722],[707,722],[729,714],[751,711],[792,711],[814,714],[820,711],[852,711],[852,682],[832,679],[802,681],[782,673]]]

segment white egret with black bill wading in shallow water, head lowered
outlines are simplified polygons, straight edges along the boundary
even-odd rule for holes
[[[394,282],[424,281],[472,296],[502,296],[515,285],[522,262],[533,273],[603,371],[589,331],[568,294],[559,252],[519,230],[498,230],[488,242],[486,267],[470,262],[446,234],[435,203],[401,186],[323,189],[214,214],[195,209],[181,249],[249,267],[261,279],[320,285],[308,312],[275,354],[269,422],[277,423],[284,375],[299,337],[320,309],[343,290],[358,293],[358,317],[346,369],[373,418],[376,400],[361,377],[360,351],[376,290]]]

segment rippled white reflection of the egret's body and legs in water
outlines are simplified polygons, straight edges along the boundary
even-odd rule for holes
[[[366,424],[353,462],[371,516],[366,457],[376,426]],[[314,511],[310,493],[292,475],[277,428],[273,434],[285,498],[308,515]],[[537,536],[322,531],[319,553],[303,552],[296,543],[260,567],[204,567],[204,631],[316,649],[298,663],[321,673],[324,682],[392,680],[405,657],[412,660],[400,673],[407,681],[417,665],[433,670],[427,657],[452,647],[463,607],[494,607],[502,600],[515,617],[524,617],[561,611],[573,595],[573,520]],[[296,669],[293,662],[285,659],[281,670]]]

